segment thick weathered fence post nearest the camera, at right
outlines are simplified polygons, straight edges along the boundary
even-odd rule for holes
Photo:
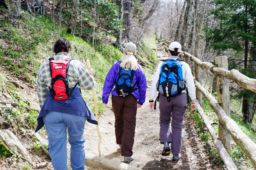
[[[228,70],[228,56],[215,57],[215,63],[218,67]],[[220,75],[217,75],[217,93],[218,103],[225,113],[230,117],[230,100],[229,100],[229,81]],[[226,128],[219,122],[219,138],[225,149],[231,152],[230,135]]]

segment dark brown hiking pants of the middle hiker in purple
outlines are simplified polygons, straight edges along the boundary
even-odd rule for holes
[[[122,144],[122,156],[132,156],[137,104],[137,99],[132,94],[128,97],[112,95],[112,107],[116,119],[116,144]]]

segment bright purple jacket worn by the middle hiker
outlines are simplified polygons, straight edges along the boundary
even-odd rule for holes
[[[114,87],[115,80],[117,80],[118,78],[119,67],[120,67],[120,62],[116,61],[111,67],[111,69],[108,71],[108,75],[105,79],[105,83],[103,86],[103,94],[102,94],[103,103],[108,103],[108,96],[111,91],[112,91],[111,92],[112,95],[118,96],[118,94],[116,93],[116,89],[114,90],[112,89]],[[138,90],[135,90],[134,92],[132,92],[132,94],[136,97],[137,100],[139,100],[138,103],[140,105],[143,105],[146,98],[147,81],[144,74],[144,70],[142,69],[140,64],[138,64],[138,69],[134,71],[132,84],[135,85],[137,80],[138,80]],[[134,88],[136,87],[137,85],[134,86]]]

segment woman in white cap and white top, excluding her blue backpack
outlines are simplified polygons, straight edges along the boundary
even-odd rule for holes
[[[172,42],[169,46],[169,59],[177,60],[179,58],[181,51],[181,45],[179,42]],[[160,70],[164,62],[158,65],[156,70],[156,75],[150,91],[149,107],[154,110],[154,98],[157,93],[156,83],[159,80]],[[191,111],[196,109],[196,92],[193,76],[190,67],[184,61],[180,61],[182,64],[183,79],[186,82],[189,96],[192,100]],[[183,90],[180,95],[176,97],[171,97],[171,101],[167,101],[167,97],[159,96],[159,110],[160,110],[160,143],[164,144],[164,150],[162,152],[163,156],[170,155],[170,151],[173,154],[173,161],[179,161],[181,158],[181,132],[182,132],[182,122],[184,118],[184,113],[188,108],[186,102],[186,91]],[[172,121],[171,121],[172,117]],[[171,126],[170,126],[171,123]],[[169,146],[171,144],[171,148]]]

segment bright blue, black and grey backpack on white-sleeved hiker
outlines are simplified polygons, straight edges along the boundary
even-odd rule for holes
[[[171,101],[171,97],[178,96],[183,90],[186,89],[185,81],[182,74],[181,60],[168,59],[163,60],[164,63],[160,70],[159,80],[156,83],[156,89],[159,92],[156,98],[159,101],[160,94],[167,97],[168,102]],[[156,109],[156,101],[155,101]]]

